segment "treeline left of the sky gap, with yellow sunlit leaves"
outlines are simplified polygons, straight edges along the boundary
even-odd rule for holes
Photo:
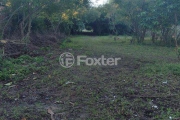
[[[83,25],[88,0],[3,0],[1,38],[29,39],[33,33],[69,35]]]

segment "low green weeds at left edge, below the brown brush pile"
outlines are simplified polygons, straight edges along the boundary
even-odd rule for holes
[[[32,58],[23,55],[17,59],[2,59],[0,61],[0,80],[22,80],[32,72],[41,72],[44,67],[38,67],[44,63],[43,57]]]

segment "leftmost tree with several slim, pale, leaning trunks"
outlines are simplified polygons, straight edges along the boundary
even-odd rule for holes
[[[7,0],[6,14],[11,17],[8,18],[4,29],[6,29],[7,25],[11,22],[11,32],[19,28],[21,39],[28,40],[33,19],[38,16],[47,4],[48,0]]]

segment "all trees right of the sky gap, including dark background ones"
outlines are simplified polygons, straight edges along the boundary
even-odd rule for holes
[[[180,43],[180,0],[110,0],[94,9],[101,13],[90,22],[96,33],[131,35],[132,43],[143,43],[147,35],[155,44]]]

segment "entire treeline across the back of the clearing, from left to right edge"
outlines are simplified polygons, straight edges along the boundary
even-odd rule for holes
[[[3,8],[3,9],[2,9]],[[132,35],[143,43],[147,33],[152,42],[180,42],[180,0],[110,0],[92,7],[89,0],[3,0],[1,38],[28,39],[32,33],[67,35],[92,30],[94,35]]]

